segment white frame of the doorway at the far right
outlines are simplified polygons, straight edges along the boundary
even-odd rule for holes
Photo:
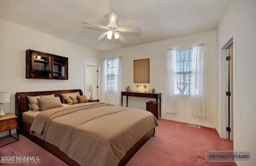
[[[228,83],[226,80],[226,73],[225,73],[225,68],[226,68],[226,51],[231,43],[233,43],[233,59],[232,59],[232,66],[233,66],[233,71],[232,71],[232,83],[233,83],[233,91],[232,91],[232,96],[233,96],[233,102],[232,102],[232,107],[233,107],[233,135],[235,135],[235,128],[236,128],[236,119],[234,118],[236,115],[236,40],[235,40],[235,32],[233,32],[230,37],[224,42],[220,49],[220,137],[226,138],[226,124],[227,124],[227,113],[226,113],[226,84]]]

